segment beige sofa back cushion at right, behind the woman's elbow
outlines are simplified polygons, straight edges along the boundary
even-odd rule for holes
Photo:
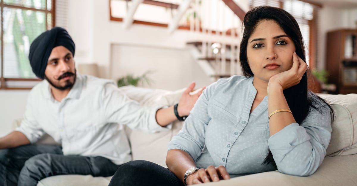
[[[318,94],[335,111],[327,156],[357,154],[357,94]]]

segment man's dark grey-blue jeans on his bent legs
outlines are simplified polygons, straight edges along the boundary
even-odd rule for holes
[[[0,186],[36,186],[64,174],[111,176],[118,167],[101,156],[64,156],[59,145],[24,145],[0,150]]]

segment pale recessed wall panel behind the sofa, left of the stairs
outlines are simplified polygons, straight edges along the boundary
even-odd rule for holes
[[[114,79],[122,74],[140,76],[151,71],[148,75],[151,88],[174,91],[187,87],[192,81],[196,82],[196,88],[211,84],[190,52],[184,49],[120,44],[112,45],[112,53]]]

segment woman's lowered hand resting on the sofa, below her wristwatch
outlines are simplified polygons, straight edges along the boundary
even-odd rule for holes
[[[207,169],[199,169],[187,177],[187,185],[201,184],[211,181],[229,180],[229,174],[225,167],[208,166]]]

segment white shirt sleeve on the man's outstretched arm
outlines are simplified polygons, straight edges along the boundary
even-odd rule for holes
[[[102,91],[102,107],[109,123],[127,125],[131,129],[154,133],[169,130],[171,124],[162,127],[157,124],[156,112],[167,105],[143,107],[135,100],[129,99],[114,84],[108,83]]]

